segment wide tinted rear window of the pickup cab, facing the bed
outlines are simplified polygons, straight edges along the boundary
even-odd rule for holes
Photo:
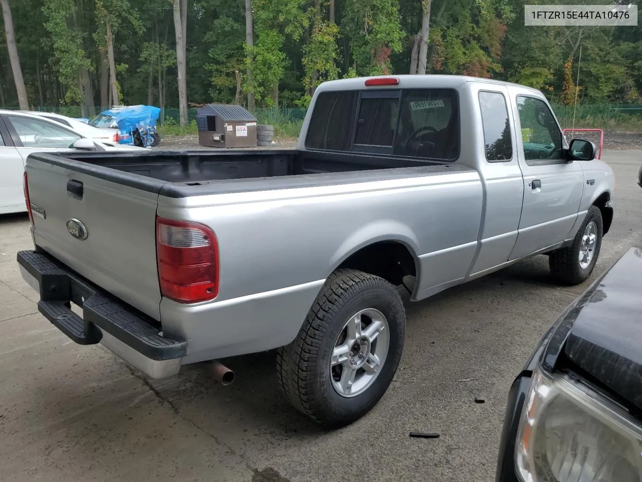
[[[459,145],[453,89],[324,92],[317,98],[306,137],[311,149],[443,161],[455,160]]]

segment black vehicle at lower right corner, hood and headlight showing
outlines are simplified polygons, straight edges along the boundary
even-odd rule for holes
[[[497,482],[642,479],[641,292],[632,247],[542,337],[510,388]]]

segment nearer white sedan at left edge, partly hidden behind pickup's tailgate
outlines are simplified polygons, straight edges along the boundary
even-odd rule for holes
[[[90,126],[91,127],[91,126]],[[0,214],[26,211],[24,163],[32,152],[146,150],[96,141],[68,125],[22,111],[0,110]]]

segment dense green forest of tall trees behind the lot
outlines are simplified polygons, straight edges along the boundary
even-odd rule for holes
[[[325,80],[388,73],[510,80],[560,105],[642,103],[642,24],[527,27],[520,0],[0,3],[3,108],[91,117],[146,103],[184,124],[203,103],[305,108]]]

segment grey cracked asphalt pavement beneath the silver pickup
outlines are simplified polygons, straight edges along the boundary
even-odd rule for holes
[[[603,159],[616,174],[615,217],[591,279],[642,242],[642,150]],[[2,481],[492,481],[512,379],[590,283],[559,287],[536,256],[408,301],[392,386],[358,422],[322,431],[281,397],[273,353],[223,361],[237,377],[223,387],[202,366],[150,382],[100,346],[73,343],[19,274],[28,224],[0,217]]]

